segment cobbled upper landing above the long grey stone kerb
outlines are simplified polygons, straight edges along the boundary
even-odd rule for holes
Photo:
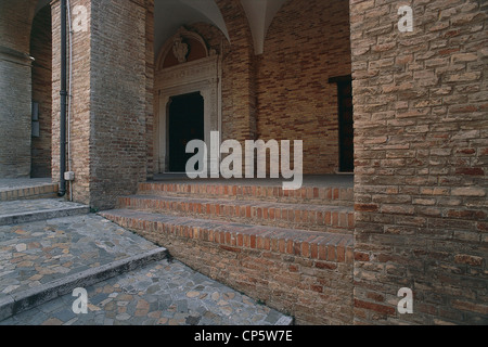
[[[3,226],[0,299],[154,248],[149,241],[97,215]]]

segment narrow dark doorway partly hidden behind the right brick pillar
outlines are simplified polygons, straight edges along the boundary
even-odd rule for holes
[[[337,83],[339,125],[339,170],[355,170],[355,129],[352,115],[352,80],[350,76],[331,78]]]

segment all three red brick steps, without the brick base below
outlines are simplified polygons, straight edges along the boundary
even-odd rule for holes
[[[159,241],[157,233],[169,232],[237,247],[271,249],[274,242],[280,250],[282,241],[285,253],[301,255],[303,248],[319,259],[322,245],[334,253],[326,259],[336,259],[345,258],[352,244],[354,188],[147,182],[101,216],[145,236],[152,233],[153,242]]]

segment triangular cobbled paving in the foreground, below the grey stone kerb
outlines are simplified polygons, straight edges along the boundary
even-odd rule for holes
[[[290,319],[179,261],[157,261],[86,288],[88,313],[65,295],[0,325],[274,325]]]

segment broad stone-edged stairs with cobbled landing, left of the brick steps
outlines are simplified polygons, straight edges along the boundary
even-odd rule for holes
[[[90,215],[88,206],[55,197],[55,184],[36,180],[3,182],[0,194],[0,321],[70,294],[76,287],[88,287],[167,257],[166,248],[149,242],[139,246],[141,237],[132,240],[130,232],[124,234],[117,226],[112,228],[118,228],[113,235],[103,231],[111,224],[108,221]],[[67,229],[69,231],[65,232]],[[107,244],[113,245],[111,249],[102,243],[102,233]],[[101,246],[95,246],[98,243]],[[116,244],[128,244],[127,249]],[[62,245],[66,247],[59,248]],[[88,256],[98,250],[103,258]],[[78,266],[63,268],[62,258],[69,258],[65,264]],[[50,280],[34,280],[44,275]]]

